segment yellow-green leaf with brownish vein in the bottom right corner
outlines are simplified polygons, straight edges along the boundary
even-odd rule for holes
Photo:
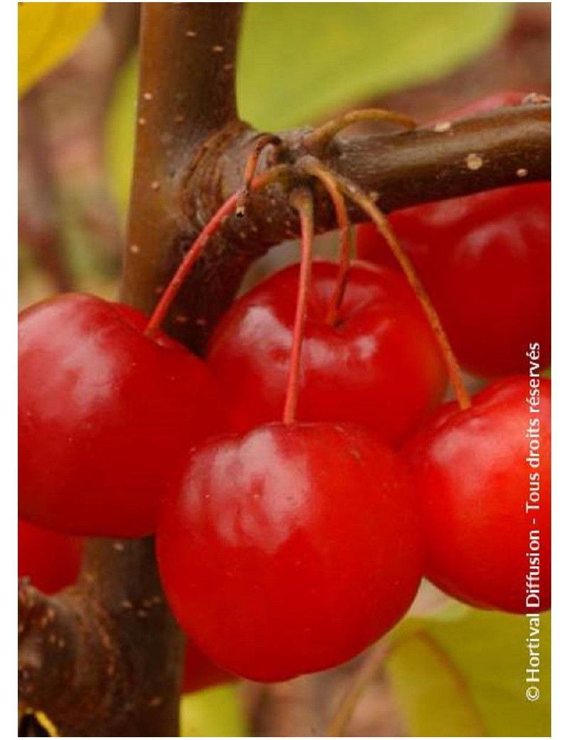
[[[551,618],[541,615],[540,696],[525,690],[525,616],[468,608],[405,619],[394,633],[389,679],[410,736],[551,736]]]

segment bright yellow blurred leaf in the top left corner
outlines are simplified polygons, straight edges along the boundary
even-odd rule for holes
[[[101,2],[18,2],[18,95],[75,50],[102,8]]]

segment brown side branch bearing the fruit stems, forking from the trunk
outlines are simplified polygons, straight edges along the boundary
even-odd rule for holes
[[[290,161],[306,153],[307,129],[280,134]],[[173,201],[170,246],[158,267],[165,285],[181,254],[221,203],[239,189],[246,158],[257,132],[235,124],[217,132],[201,148],[198,160],[179,175]],[[269,154],[263,155],[262,166]],[[390,135],[339,138],[323,158],[389,212],[426,201],[455,198],[507,185],[551,177],[551,107],[531,104],[503,108],[447,126]],[[326,191],[315,186],[317,232],[336,228]],[[365,216],[353,206],[352,221]],[[172,221],[173,223],[173,221]],[[197,351],[238,290],[253,260],[269,247],[299,235],[299,223],[279,186],[251,195],[246,217],[229,218],[206,248],[203,258],[178,295],[168,329]],[[167,255],[167,256],[166,256]],[[147,303],[152,297],[147,296]]]

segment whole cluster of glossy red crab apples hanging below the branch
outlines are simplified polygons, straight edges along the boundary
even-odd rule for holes
[[[549,608],[550,194],[519,185],[391,217],[459,363],[493,379],[465,408],[441,405],[439,343],[367,224],[333,321],[337,264],[313,265],[294,419],[298,265],[232,304],[205,360],[129,306],[70,294],[24,310],[20,517],[72,536],[155,533],[186,633],[261,681],[360,653],[423,576],[525,613],[530,531]],[[42,577],[54,589],[73,575]]]

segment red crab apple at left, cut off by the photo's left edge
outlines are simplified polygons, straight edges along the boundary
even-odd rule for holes
[[[64,534],[143,536],[190,445],[221,428],[204,363],[144,314],[69,294],[18,320],[19,515]]]

